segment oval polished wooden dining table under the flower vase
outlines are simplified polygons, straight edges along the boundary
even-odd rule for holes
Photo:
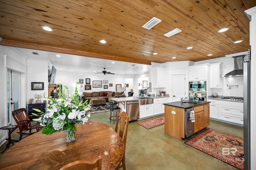
[[[124,142],[110,126],[99,122],[76,125],[76,140],[66,143],[65,131],[37,132],[12,146],[1,158],[4,170],[59,170],[76,160],[102,156],[102,170],[114,170],[122,160]]]

